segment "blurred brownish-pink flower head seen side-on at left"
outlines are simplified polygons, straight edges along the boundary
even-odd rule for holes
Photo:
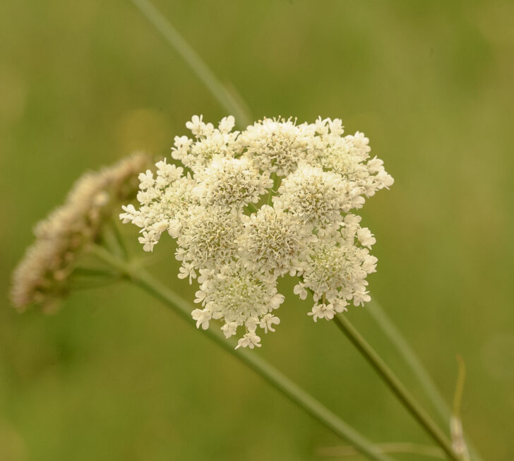
[[[13,273],[14,306],[40,304],[49,310],[67,292],[76,261],[100,236],[114,208],[136,195],[138,172],[149,162],[138,153],[76,181],[65,203],[35,226],[36,240]]]

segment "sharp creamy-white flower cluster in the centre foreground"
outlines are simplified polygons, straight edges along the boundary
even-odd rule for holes
[[[145,251],[163,232],[177,239],[179,277],[200,285],[198,328],[220,320],[226,337],[244,329],[237,347],[260,347],[258,331],[280,323],[285,275],[298,277],[294,294],[311,294],[314,321],[369,301],[375,239],[353,211],[393,178],[368,138],[345,136],[340,119],[263,119],[239,132],[233,116],[217,128],[193,116],[186,127],[193,138],[172,149],[183,167],[162,160],[141,173],[140,206],[120,218],[141,228]]]

